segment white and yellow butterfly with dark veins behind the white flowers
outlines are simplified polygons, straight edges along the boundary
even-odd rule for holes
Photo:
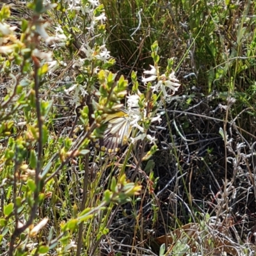
[[[120,109],[116,113],[109,114],[104,123],[107,124],[104,138],[97,141],[95,147],[104,152],[116,153],[127,144],[131,136],[131,120],[127,111]]]

